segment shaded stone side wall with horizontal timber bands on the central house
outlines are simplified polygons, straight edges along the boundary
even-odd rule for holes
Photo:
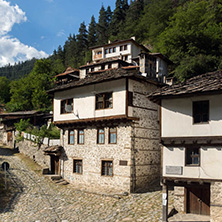
[[[157,86],[130,80],[133,92],[133,116],[139,121],[133,125],[132,159],[135,161],[135,190],[159,185],[161,150],[159,145],[158,106],[147,99]]]

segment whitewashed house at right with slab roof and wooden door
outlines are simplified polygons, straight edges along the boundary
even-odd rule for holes
[[[164,221],[168,187],[179,212],[222,218],[222,72],[206,73],[149,96],[161,105]]]

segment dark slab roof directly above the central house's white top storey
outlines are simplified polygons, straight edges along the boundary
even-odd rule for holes
[[[147,81],[155,85],[160,85],[160,83],[158,83],[157,81],[140,75],[139,71],[136,68],[130,69],[130,70],[125,70],[123,68],[118,68],[118,69],[115,68],[115,69],[106,70],[103,73],[89,75],[88,77],[79,79],[78,81],[74,81],[74,82],[70,82],[64,85],[57,86],[51,90],[48,90],[47,92],[54,93],[56,91],[62,91],[62,90],[70,89],[70,88],[91,85],[95,83],[111,81],[111,80],[127,78],[127,77],[134,78],[137,80]]]

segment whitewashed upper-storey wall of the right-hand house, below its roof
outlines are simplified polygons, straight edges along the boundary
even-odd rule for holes
[[[193,101],[209,100],[209,123],[193,124]],[[222,95],[162,100],[162,137],[222,135]]]

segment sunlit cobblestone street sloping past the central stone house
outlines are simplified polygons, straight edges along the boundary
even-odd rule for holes
[[[10,163],[11,186],[16,191],[8,206],[0,209],[2,222],[160,221],[161,191],[120,199],[86,193],[52,183],[29,169],[21,157],[0,148],[0,163]]]

